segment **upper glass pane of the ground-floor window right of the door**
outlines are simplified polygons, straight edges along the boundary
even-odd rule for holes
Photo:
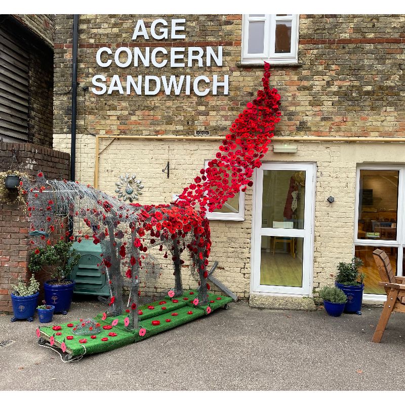
[[[358,239],[396,240],[398,170],[360,170]]]

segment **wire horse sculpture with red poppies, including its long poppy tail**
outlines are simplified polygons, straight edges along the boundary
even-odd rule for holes
[[[64,227],[61,217],[69,215],[75,223],[75,235],[70,240],[80,242],[93,238],[101,244],[102,263],[110,288],[110,313],[119,315],[125,310],[122,296],[123,273],[129,280],[132,329],[138,328],[138,297],[141,270],[156,273],[158,258],[150,251],[157,248],[173,261],[175,286],[170,296],[183,293],[181,268],[182,254],[188,251],[191,272],[198,280],[198,302],[207,305],[207,265],[211,251],[210,225],[207,210],[220,209],[226,200],[252,186],[254,169],[268,150],[274,126],[280,120],[280,96],[269,88],[270,66],[265,63],[263,90],[248,103],[234,120],[222,141],[216,158],[200,176],[186,187],[179,199],[169,205],[126,204],[90,185],[71,181],[46,180],[38,174],[35,183],[23,179],[27,194],[28,217],[31,222],[31,244],[45,247],[51,244],[50,234],[56,227]],[[93,232],[85,234],[80,221]],[[66,236],[69,236],[66,231]],[[64,238],[65,236],[61,236]]]

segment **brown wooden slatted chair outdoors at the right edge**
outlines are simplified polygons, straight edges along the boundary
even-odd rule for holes
[[[384,303],[384,308],[372,339],[372,342],[380,343],[391,313],[405,312],[405,277],[394,275],[389,257],[383,250],[376,249],[373,252],[373,257],[382,280],[378,285],[384,287],[387,293],[387,301]]]

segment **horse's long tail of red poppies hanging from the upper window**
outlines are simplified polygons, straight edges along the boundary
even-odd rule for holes
[[[263,90],[257,98],[233,121],[229,133],[222,141],[216,158],[201,169],[194,182],[184,188],[177,204],[196,206],[200,211],[219,210],[226,200],[246,186],[252,186],[250,178],[268,150],[273,137],[274,125],[280,120],[280,96],[269,87],[270,65],[265,62],[262,78]]]

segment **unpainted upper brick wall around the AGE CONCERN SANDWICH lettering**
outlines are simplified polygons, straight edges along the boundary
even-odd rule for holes
[[[90,86],[94,74],[229,74],[229,96],[96,96],[78,91],[78,131],[94,134],[192,135],[227,130],[260,85],[261,68],[240,66],[240,15],[187,15],[186,39],[131,40],[134,25],[158,15],[80,15],[78,81]],[[405,16],[301,15],[299,64],[272,66],[271,85],[279,89],[283,119],[276,135],[401,136],[404,124],[403,50]],[[55,90],[70,86],[71,16],[57,16]],[[166,41],[166,42],[165,42]],[[161,69],[101,68],[102,46],[140,48],[223,45],[224,66]],[[86,106],[85,106],[86,104]],[[86,123],[85,123],[86,116]],[[67,133],[70,100],[55,95],[55,133]]]

